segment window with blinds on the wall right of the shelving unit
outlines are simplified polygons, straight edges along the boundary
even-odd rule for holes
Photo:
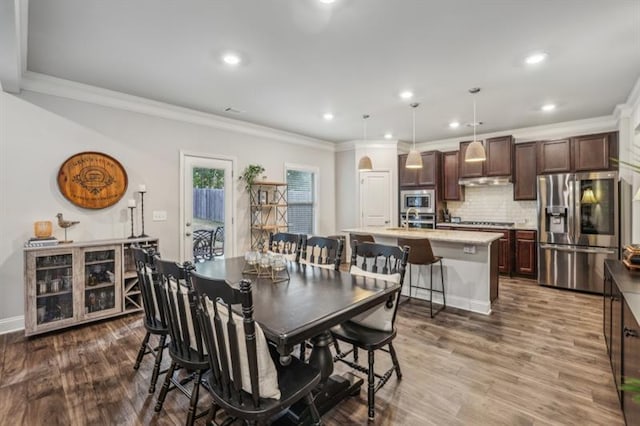
[[[316,173],[287,167],[287,221],[289,232],[313,234],[316,220]]]

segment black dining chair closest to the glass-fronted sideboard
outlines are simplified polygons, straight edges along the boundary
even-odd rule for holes
[[[154,357],[151,383],[149,384],[149,393],[154,393],[158,376],[165,372],[160,371],[160,365],[162,364],[162,354],[167,347],[167,335],[169,334],[167,319],[158,304],[160,288],[156,286],[157,272],[154,264],[154,255],[157,255],[157,253],[152,248],[145,250],[135,245],[131,246],[131,251],[136,266],[136,274],[138,275],[138,287],[142,296],[143,322],[146,330],[133,369],[140,368],[140,363],[145,355],[151,354]],[[156,346],[149,343],[152,335],[158,337]]]

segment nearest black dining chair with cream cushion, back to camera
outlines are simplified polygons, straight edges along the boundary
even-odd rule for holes
[[[295,357],[286,367],[274,362],[277,353],[253,319],[251,281],[242,280],[237,289],[194,273],[192,283],[200,298],[199,320],[210,366],[206,380],[213,403],[248,424],[268,424],[302,400],[314,424],[321,424],[311,393],[320,372]],[[240,305],[241,313],[232,305]]]

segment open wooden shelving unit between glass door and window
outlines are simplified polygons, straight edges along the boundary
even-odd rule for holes
[[[251,249],[263,250],[269,233],[286,232],[287,184],[282,182],[256,182],[249,189],[251,205]]]

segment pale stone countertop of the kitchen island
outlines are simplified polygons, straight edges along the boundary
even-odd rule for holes
[[[371,234],[381,237],[395,238],[429,238],[431,241],[443,241],[449,243],[465,244],[489,244],[492,241],[502,238],[502,234],[485,231],[454,231],[446,229],[404,229],[404,228],[351,228],[343,229],[342,232],[354,234]]]

